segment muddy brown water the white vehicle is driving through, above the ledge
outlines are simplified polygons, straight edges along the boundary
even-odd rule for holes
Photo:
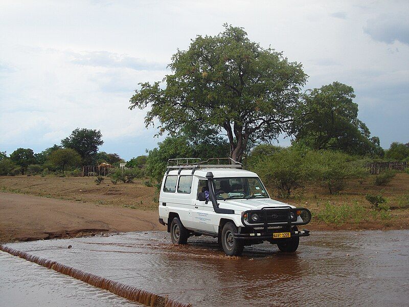
[[[172,246],[166,232],[7,246],[194,306],[385,306],[409,304],[408,236],[315,231],[294,254],[261,244],[242,257],[225,256],[204,236]]]

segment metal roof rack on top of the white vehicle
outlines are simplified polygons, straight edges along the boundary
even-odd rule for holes
[[[222,164],[224,162],[224,164]],[[200,158],[178,158],[169,159],[166,167],[166,174],[172,169],[178,169],[178,174],[182,169],[192,169],[194,174],[199,168],[242,168],[240,162],[234,161],[232,158],[211,158],[206,161],[201,161]]]

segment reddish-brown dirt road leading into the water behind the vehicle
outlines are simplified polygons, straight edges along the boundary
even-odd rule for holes
[[[164,230],[157,212],[0,192],[0,242]]]

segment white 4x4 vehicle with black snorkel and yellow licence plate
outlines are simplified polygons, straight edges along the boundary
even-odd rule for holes
[[[173,244],[210,235],[227,255],[240,255],[245,245],[264,241],[294,252],[300,236],[309,235],[297,226],[310,222],[310,211],[270,199],[257,174],[241,164],[171,160],[176,165],[168,166],[162,181],[159,222],[168,226]]]

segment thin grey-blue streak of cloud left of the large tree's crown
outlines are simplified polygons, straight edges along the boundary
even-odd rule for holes
[[[131,57],[108,51],[93,51],[86,53],[70,53],[71,62],[78,65],[109,68],[129,68],[132,70],[165,70],[165,63],[149,62],[144,59]]]

